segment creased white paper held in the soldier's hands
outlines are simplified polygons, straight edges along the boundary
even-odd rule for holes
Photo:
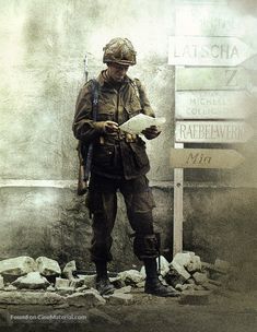
[[[152,118],[143,114],[139,114],[119,126],[119,129],[129,133],[139,134],[142,132],[142,130],[151,126],[162,126],[165,122],[165,118]]]

